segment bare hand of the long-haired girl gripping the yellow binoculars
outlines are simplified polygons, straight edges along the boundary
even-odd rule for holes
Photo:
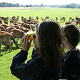
[[[30,48],[30,44],[32,40],[29,40],[29,34],[25,34],[22,38],[21,38],[21,46],[22,46],[22,50],[28,52],[29,48]]]

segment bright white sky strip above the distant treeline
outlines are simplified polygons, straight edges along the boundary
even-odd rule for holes
[[[7,3],[19,3],[21,5],[26,4],[43,4],[43,5],[66,5],[70,3],[77,3],[80,4],[80,0],[0,0],[1,2],[7,2]]]

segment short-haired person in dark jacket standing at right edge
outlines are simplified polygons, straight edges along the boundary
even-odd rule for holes
[[[63,57],[63,68],[61,79],[79,80],[80,58],[79,50],[76,48],[79,42],[79,30],[76,25],[68,24],[63,28],[63,45],[67,52]]]

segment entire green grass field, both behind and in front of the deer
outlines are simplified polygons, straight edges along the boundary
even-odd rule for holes
[[[21,21],[21,16],[29,18],[29,16],[34,19],[36,16],[39,16],[39,22],[41,22],[41,17],[45,18],[49,16],[50,19],[55,19],[56,17],[60,18],[65,17],[66,21],[69,21],[69,17],[75,18],[77,16],[80,17],[80,9],[64,9],[64,8],[0,8],[0,16],[9,17],[19,16],[19,21]],[[64,25],[63,22],[58,20],[60,25]],[[0,80],[19,80],[15,76],[13,76],[10,72],[10,65],[12,62],[12,58],[16,55],[20,50],[20,41],[19,49],[16,49],[15,45],[13,45],[13,50],[9,53],[9,51],[5,51],[4,46],[2,46],[2,53],[0,54]],[[79,43],[80,45],[80,43]],[[31,44],[28,60],[31,58],[31,52],[33,48],[33,43]]]

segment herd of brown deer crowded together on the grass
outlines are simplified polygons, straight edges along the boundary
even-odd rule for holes
[[[31,16],[29,17],[29,19],[22,16],[22,21],[20,22],[19,16],[13,16],[9,22],[9,17],[0,17],[0,53],[2,44],[5,45],[6,49],[9,48],[9,51],[12,50],[13,43],[15,44],[16,48],[18,48],[18,44],[15,41],[15,38],[22,38],[24,33],[30,30],[34,31],[36,25],[39,24],[38,19],[38,16],[36,17],[36,19],[33,19]],[[41,19],[42,21],[50,20],[48,16],[46,16],[44,19]],[[65,22],[65,17],[60,17],[60,20],[63,20]],[[58,21],[58,17],[56,17],[55,21]],[[65,24],[70,24],[72,22],[75,22],[76,25],[80,25],[80,18],[76,17],[76,19],[74,20],[72,17],[70,17],[69,21],[65,22]],[[10,23],[10,26],[8,25],[8,23]]]

